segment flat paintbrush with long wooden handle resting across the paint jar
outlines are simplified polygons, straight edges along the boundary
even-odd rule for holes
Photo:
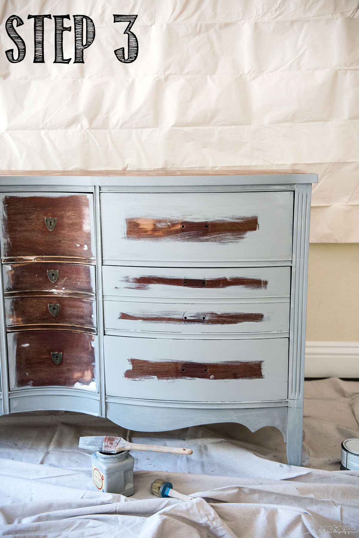
[[[111,437],[109,435],[80,437],[79,448],[93,450],[94,452],[108,452],[117,454],[124,450],[143,450],[145,452],[166,452],[166,454],[193,454],[189,448],[159,447],[153,444],[129,443],[122,437]]]

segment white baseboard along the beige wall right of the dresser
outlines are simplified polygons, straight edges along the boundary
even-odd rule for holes
[[[306,342],[305,377],[359,378],[359,342]]]

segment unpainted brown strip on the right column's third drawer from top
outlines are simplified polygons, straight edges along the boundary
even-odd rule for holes
[[[207,325],[234,325],[246,322],[260,323],[263,321],[263,318],[264,314],[251,312],[191,312],[183,315],[173,312],[164,312],[161,314],[129,314],[128,312],[121,312],[118,316],[119,320],[145,321],[150,323],[206,323]]]

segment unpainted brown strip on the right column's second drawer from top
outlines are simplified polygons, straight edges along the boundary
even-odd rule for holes
[[[184,282],[186,281],[186,284]],[[203,281],[205,285],[203,286]],[[156,276],[142,276],[142,277],[125,277],[124,282],[128,286],[124,286],[128,289],[149,289],[153,285],[164,286],[181,286],[187,288],[228,288],[230,286],[242,286],[250,289],[266,289],[268,286],[268,280],[262,280],[260,278],[247,278],[247,277],[221,277],[221,278],[209,278],[209,279],[188,279],[188,278],[171,278],[171,277],[156,277]],[[121,289],[116,286],[115,289]]]

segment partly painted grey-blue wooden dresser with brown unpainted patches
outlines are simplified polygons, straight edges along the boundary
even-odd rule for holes
[[[142,431],[274,426],[300,465],[317,180],[3,175],[2,412],[72,410]]]

